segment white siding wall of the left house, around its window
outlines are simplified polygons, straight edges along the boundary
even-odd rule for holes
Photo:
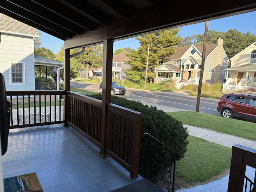
[[[34,42],[32,37],[1,34],[0,72],[4,75],[6,90],[34,90]],[[24,83],[12,84],[10,79],[10,63],[24,62]]]

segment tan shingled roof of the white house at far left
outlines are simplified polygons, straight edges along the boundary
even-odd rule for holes
[[[28,36],[39,37],[39,33],[36,28],[8,17],[2,13],[0,13],[0,32],[26,34]]]

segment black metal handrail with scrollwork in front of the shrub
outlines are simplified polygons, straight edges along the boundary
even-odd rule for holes
[[[143,136],[147,146],[146,178],[160,178],[169,182],[174,192],[177,153],[152,135],[144,133]]]

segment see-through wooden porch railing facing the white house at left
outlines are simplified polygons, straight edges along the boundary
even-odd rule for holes
[[[64,91],[6,91],[11,104],[10,129],[64,123]]]

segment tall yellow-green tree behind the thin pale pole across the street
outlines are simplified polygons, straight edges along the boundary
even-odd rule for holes
[[[136,37],[140,47],[138,50],[130,50],[128,57],[131,61],[128,64],[131,68],[127,70],[127,78],[138,82],[145,79],[146,62],[148,56],[148,44],[150,45],[148,57],[148,72],[147,76],[153,78],[155,76],[154,69],[158,66],[161,58],[175,53],[175,46],[180,44],[182,38],[177,35],[180,28],[160,31],[152,34],[146,34]]]

